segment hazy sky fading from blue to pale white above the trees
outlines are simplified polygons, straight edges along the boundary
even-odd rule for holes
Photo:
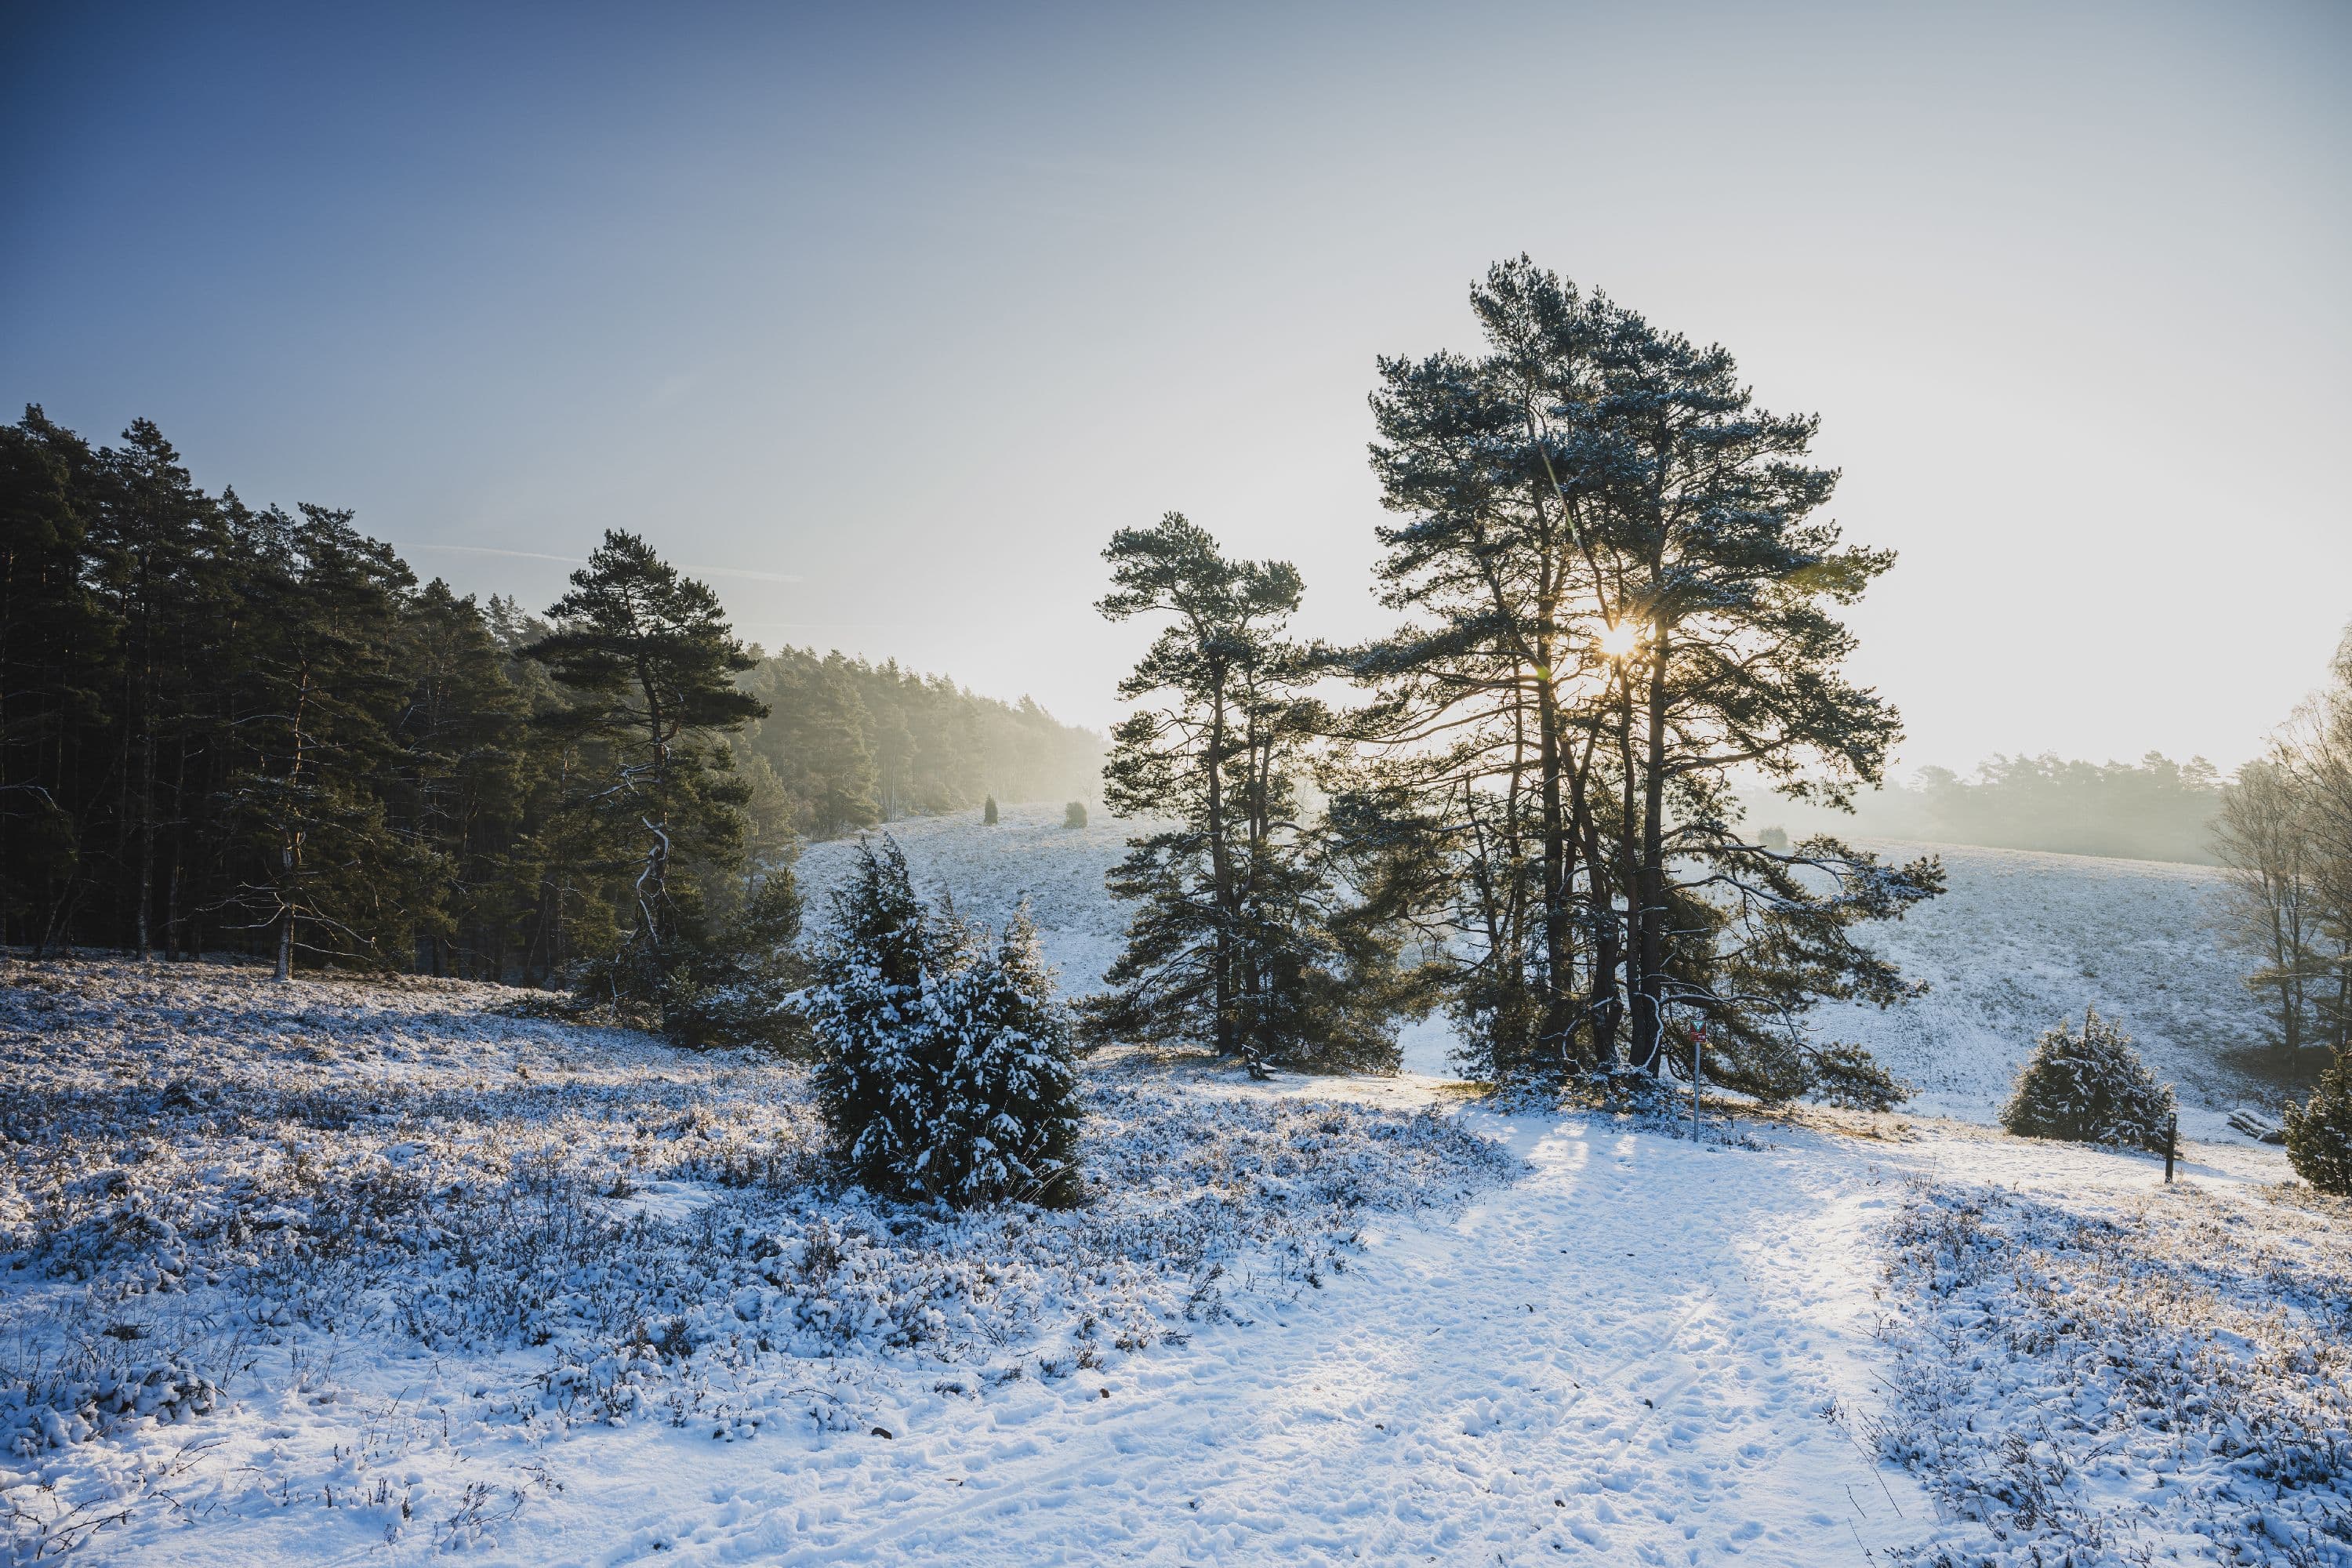
[[[1385,625],[1376,353],[1529,252],[1823,416],[1903,764],[2234,764],[2352,616],[2352,7],[7,7],[0,400],[534,607],[1103,724],[1183,510]]]

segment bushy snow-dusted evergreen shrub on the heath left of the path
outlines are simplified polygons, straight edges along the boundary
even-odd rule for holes
[[[809,992],[818,1110],[866,1187],[955,1206],[1077,1199],[1073,1030],[1028,914],[1002,940],[915,896],[863,844]]]

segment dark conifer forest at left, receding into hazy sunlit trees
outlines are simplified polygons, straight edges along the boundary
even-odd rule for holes
[[[1096,795],[1103,741],[1035,703],[755,658],[642,541],[597,559],[550,621],[207,494],[153,423],[0,425],[0,940],[550,983],[654,924],[644,832],[720,929],[795,832]]]

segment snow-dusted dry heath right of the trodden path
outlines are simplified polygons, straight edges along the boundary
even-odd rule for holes
[[[2284,1185],[1915,1182],[1872,1436],[1955,1528],[1912,1561],[2352,1563],[2347,1218]]]

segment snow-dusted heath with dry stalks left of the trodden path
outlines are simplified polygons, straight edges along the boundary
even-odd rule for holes
[[[1075,1213],[828,1180],[807,1074],[499,987],[0,973],[0,1519],[496,1540],[581,1425],[887,1429],[1348,1267],[1512,1161],[1428,1112],[1089,1088]]]

